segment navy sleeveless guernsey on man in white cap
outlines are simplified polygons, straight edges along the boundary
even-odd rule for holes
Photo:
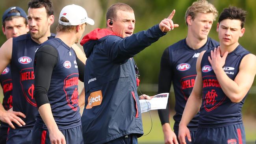
[[[58,38],[51,38],[41,46],[51,45],[58,52],[58,62],[52,71],[48,90],[48,100],[54,120],[59,130],[81,125],[78,106],[78,66],[76,54]],[[37,114],[35,126],[47,129],[41,116]]]

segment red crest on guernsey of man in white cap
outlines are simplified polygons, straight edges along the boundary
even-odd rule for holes
[[[78,73],[71,74],[64,79],[64,92],[67,104],[73,111],[78,107]]]

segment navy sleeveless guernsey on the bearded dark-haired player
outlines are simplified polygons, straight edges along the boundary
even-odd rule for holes
[[[31,39],[30,33],[13,38],[13,52],[11,58],[11,75],[13,78],[13,111],[26,115],[21,118],[26,125],[16,128],[33,129],[35,116],[38,113],[34,90],[33,61],[35,52],[39,48]]]

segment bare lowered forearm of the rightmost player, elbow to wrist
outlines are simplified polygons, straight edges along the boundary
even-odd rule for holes
[[[187,126],[192,118],[198,113],[202,105],[202,97],[191,94],[187,100],[185,109],[182,114],[180,126]]]

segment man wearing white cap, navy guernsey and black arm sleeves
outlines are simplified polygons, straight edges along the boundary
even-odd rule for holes
[[[83,143],[78,79],[83,81],[85,66],[71,46],[82,37],[86,24],[94,21],[83,7],[63,7],[56,37],[41,44],[35,54],[34,97],[40,115],[33,128],[33,144]]]

